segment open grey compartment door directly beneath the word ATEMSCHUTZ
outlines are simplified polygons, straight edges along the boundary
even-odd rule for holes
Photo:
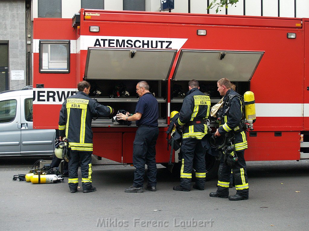
[[[166,80],[176,49],[89,47],[85,79]]]

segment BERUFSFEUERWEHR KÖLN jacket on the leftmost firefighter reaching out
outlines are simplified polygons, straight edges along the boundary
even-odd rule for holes
[[[83,91],[69,96],[59,115],[59,136],[67,138],[72,151],[92,152],[91,120],[95,116],[109,116],[112,107],[99,104]]]

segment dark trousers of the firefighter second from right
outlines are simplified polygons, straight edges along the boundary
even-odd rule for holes
[[[186,189],[190,188],[194,163],[195,183],[199,188],[204,188],[206,177],[205,148],[201,140],[195,138],[183,139],[180,152],[182,153],[180,186]]]

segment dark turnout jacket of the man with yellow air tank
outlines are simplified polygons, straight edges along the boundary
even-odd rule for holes
[[[221,135],[225,135],[227,132],[235,134],[235,151],[237,152],[248,148],[248,144],[245,129],[242,126],[239,126],[243,116],[242,102],[238,97],[232,97],[233,95],[239,94],[230,89],[223,97],[223,116],[218,132]],[[229,100],[231,100],[231,102],[229,102]],[[225,111],[228,107],[230,108],[225,115]]]

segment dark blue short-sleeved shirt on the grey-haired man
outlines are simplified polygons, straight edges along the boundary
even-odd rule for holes
[[[139,98],[135,113],[142,113],[140,120],[136,121],[136,125],[148,125],[152,127],[158,126],[159,118],[159,106],[157,99],[150,93],[147,92]]]

